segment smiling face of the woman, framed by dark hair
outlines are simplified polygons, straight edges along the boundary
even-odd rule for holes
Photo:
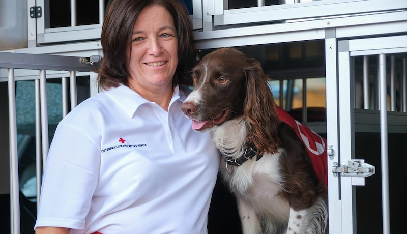
[[[133,27],[129,86],[143,94],[172,89],[178,65],[178,36],[170,13],[161,6],[144,8]]]

